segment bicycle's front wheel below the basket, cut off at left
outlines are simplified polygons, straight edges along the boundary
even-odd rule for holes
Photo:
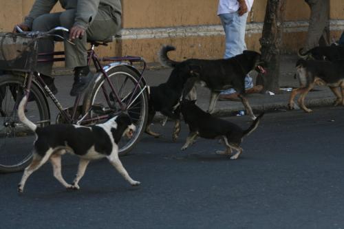
[[[22,171],[32,159],[35,135],[18,118],[17,106],[23,98],[21,76],[0,76],[0,172]],[[25,116],[39,127],[50,124],[49,108],[42,91],[32,84]]]

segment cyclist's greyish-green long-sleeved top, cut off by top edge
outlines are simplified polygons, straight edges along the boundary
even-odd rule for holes
[[[36,17],[42,14],[49,14],[57,1],[61,3],[65,10],[76,9],[76,17],[74,25],[78,25],[85,30],[96,17],[99,6],[110,6],[113,17],[120,17],[122,14],[122,6],[120,0],[36,0],[30,14],[25,17],[24,24],[32,28],[32,22]]]

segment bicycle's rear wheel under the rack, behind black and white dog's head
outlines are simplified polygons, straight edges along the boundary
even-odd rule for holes
[[[122,137],[118,144],[118,154],[127,155],[127,153],[133,149],[133,146],[140,140],[147,125],[147,89],[144,89],[144,83],[140,82],[138,84],[140,74],[125,65],[109,69],[107,74],[119,98],[116,98],[116,95],[111,90],[107,78],[101,76],[101,80],[96,81],[92,91],[85,95],[83,110],[89,111],[91,109],[89,113],[90,118],[96,118],[96,116],[99,116],[99,113],[93,111],[92,107],[101,106],[103,110],[116,112],[121,110],[118,99],[122,101],[125,107],[127,107],[126,111],[129,113],[133,124],[136,126],[133,137],[131,139]],[[133,93],[137,84],[138,88]],[[129,102],[131,97],[134,100]],[[105,122],[105,120],[100,120],[99,122]]]

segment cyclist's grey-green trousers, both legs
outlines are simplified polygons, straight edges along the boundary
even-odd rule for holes
[[[56,26],[63,26],[67,29],[74,25],[75,9],[65,10],[52,14],[43,14],[34,19],[32,31],[49,31]],[[92,24],[87,28],[85,36],[82,39],[72,41],[75,45],[64,42],[65,45],[65,66],[81,67],[87,65],[87,41],[104,41],[114,36],[120,30],[120,15],[111,15],[111,8],[104,6],[98,8],[98,14]],[[68,37],[68,33],[61,34]],[[39,41],[39,52],[54,51],[53,37]],[[37,71],[51,76],[53,63],[39,63]]]

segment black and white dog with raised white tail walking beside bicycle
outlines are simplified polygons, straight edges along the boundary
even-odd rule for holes
[[[110,118],[103,124],[91,127],[74,124],[53,124],[47,127],[37,127],[25,116],[24,109],[27,101],[28,97],[24,96],[18,107],[18,116],[23,124],[34,131],[36,140],[34,141],[33,160],[25,168],[21,182],[18,184],[19,193],[23,192],[28,177],[47,160],[52,163],[54,177],[67,189],[78,190],[78,182],[83,177],[89,162],[103,157],[106,157],[132,186],[140,184],[140,182],[131,179],[118,158],[117,144],[120,138],[122,135],[131,138],[133,131],[136,130],[127,114],[122,113]],[[61,175],[61,155],[67,152],[80,157],[78,172],[73,184],[65,182]]]

